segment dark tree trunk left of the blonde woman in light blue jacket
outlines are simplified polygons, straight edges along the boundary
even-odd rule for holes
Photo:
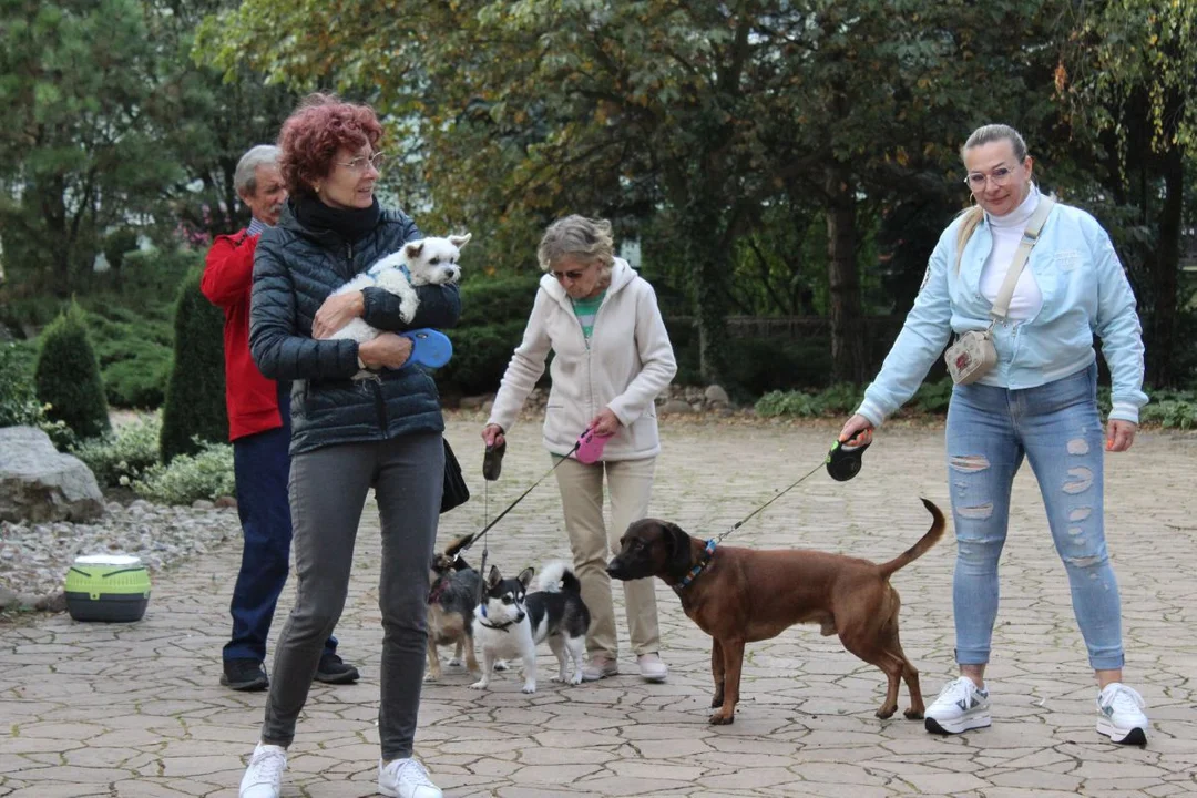
[[[868,347],[856,272],[856,197],[846,172],[827,173],[827,279],[831,285],[832,379],[861,384],[868,379]]]

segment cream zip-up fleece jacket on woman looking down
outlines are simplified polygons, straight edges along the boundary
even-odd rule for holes
[[[549,351],[553,386],[545,449],[565,455],[590,420],[609,407],[621,426],[603,449],[604,461],[643,459],[661,451],[654,400],[669,385],[678,364],[656,292],[627,261],[615,258],[589,345],[565,288],[551,274],[541,278],[523,341],[503,374],[487,424],[511,430],[545,372]]]

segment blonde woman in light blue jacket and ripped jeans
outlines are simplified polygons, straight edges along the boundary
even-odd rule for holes
[[[976,206],[943,231],[898,340],[839,439],[863,443],[918,389],[952,333],[990,325],[994,300],[1040,202],[1033,162],[1016,130],[988,124],[961,151]],[[985,664],[997,616],[997,564],[1010,488],[1023,457],[1039,481],[1056,550],[1098,684],[1098,731],[1143,744],[1143,699],[1122,683],[1118,584],[1106,552],[1102,446],[1135,440],[1143,392],[1143,343],[1135,296],[1110,237],[1088,213],[1056,205],[994,327],[997,364],[956,385],[947,424],[958,554],[953,579],[961,676],[926,709],[926,730],[990,725]],[[1102,433],[1093,334],[1113,378]]]

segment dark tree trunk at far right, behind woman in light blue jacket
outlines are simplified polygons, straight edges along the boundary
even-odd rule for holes
[[[1152,296],[1155,299],[1147,380],[1155,386],[1175,386],[1177,304],[1179,298],[1180,227],[1185,199],[1185,162],[1179,146],[1163,154],[1163,206],[1160,211],[1160,243],[1152,258]]]

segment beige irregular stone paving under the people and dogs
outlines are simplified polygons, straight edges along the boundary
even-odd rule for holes
[[[449,432],[479,500],[445,517],[442,542],[481,522],[479,426],[458,419]],[[654,511],[691,530],[723,531],[819,462],[832,435],[830,425],[667,424]],[[926,529],[919,495],[947,505],[941,446],[942,431],[887,430],[855,481],[820,473],[733,540],[888,559]],[[546,467],[536,425],[517,428],[492,508]],[[990,730],[938,738],[900,715],[879,721],[881,674],[814,627],[751,645],[735,725],[709,726],[707,640],[660,585],[667,684],[622,675],[560,687],[547,678],[547,652],[535,696],[519,693],[515,676],[480,694],[450,672],[424,690],[418,755],[457,797],[1197,794],[1195,477],[1197,441],[1167,433],[1142,434],[1107,467],[1128,681],[1155,724],[1146,750],[1113,747],[1094,731],[1095,690],[1067,580],[1023,473],[1003,561]],[[291,798],[375,794],[381,633],[371,510],[338,627],[364,680],[312,689],[291,749]],[[555,486],[533,493],[496,532],[500,567],[566,556]],[[952,672],[954,549],[946,538],[894,578],[904,645],[931,696]],[[136,625],[60,615],[0,628],[0,796],[236,796],[265,701],[217,683],[238,555],[233,543],[159,575]],[[290,602],[288,592],[280,613]],[[621,665],[633,670],[628,652]]]

